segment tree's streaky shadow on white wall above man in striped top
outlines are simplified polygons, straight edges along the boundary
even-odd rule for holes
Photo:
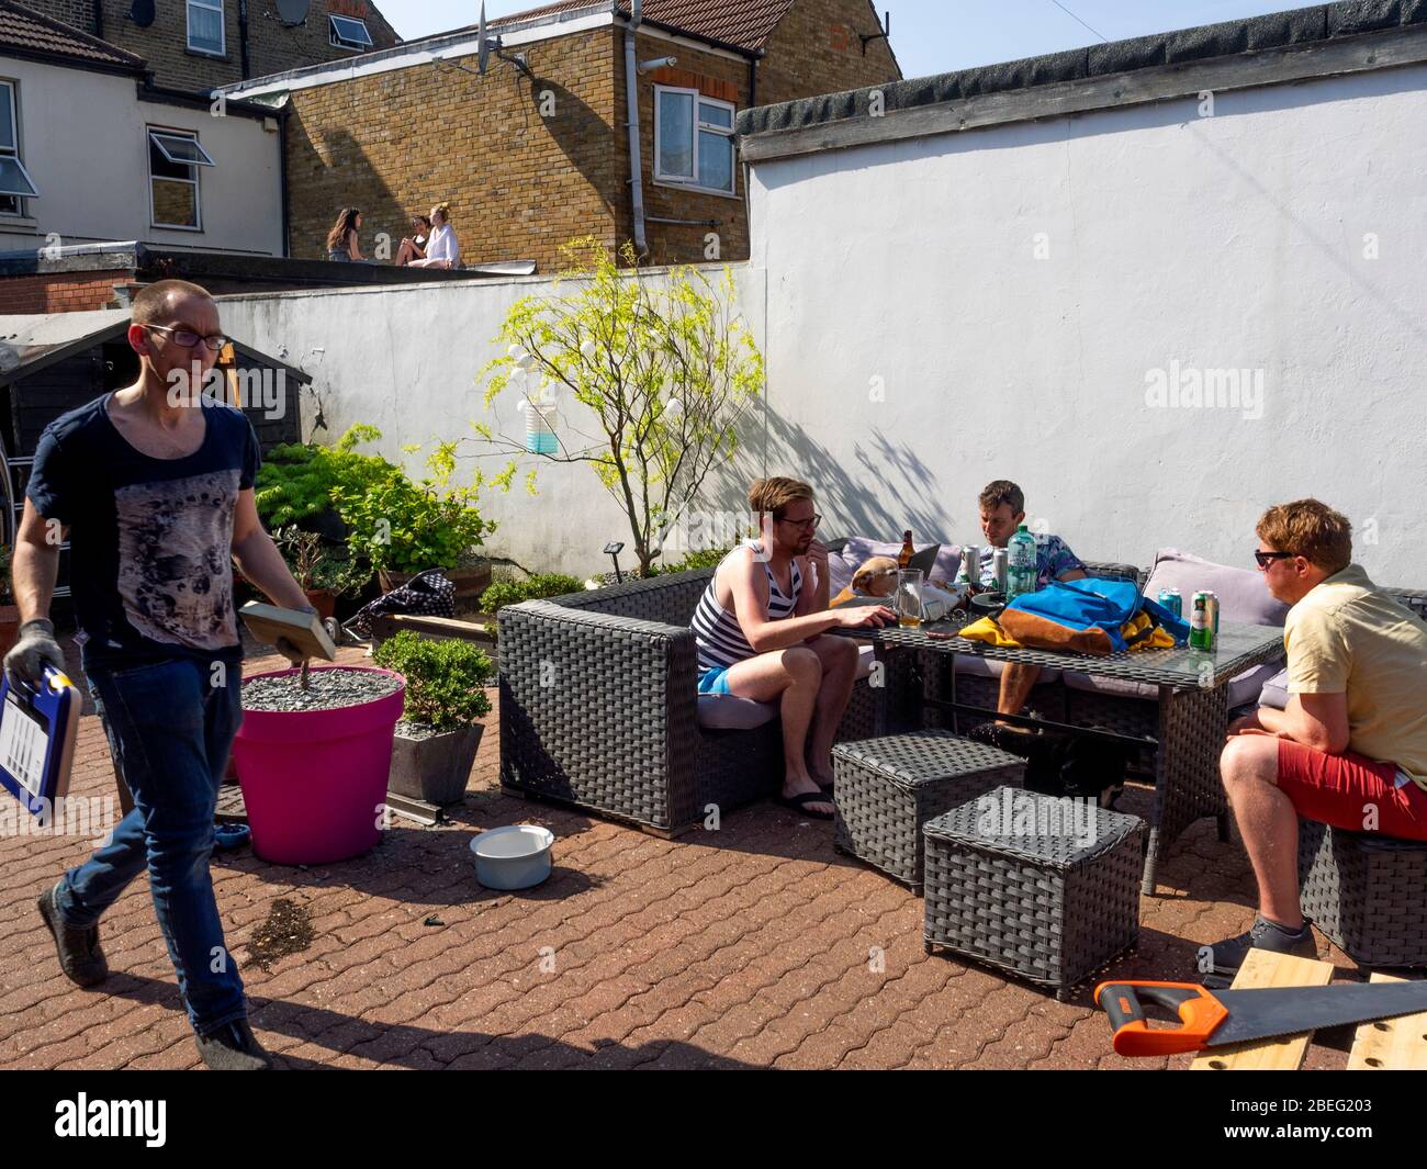
[[[803,427],[771,410],[766,401],[743,427],[729,471],[705,490],[709,505],[746,510],[748,485],[765,474],[765,464],[768,475],[805,480],[818,492],[818,511],[828,517],[819,531],[823,540],[843,535],[896,540],[906,528],[918,542],[952,540],[956,532],[946,530],[946,517],[952,517],[956,531],[972,530],[976,522],[976,501],[948,498],[936,471],[909,447],[869,430],[846,462]]]

